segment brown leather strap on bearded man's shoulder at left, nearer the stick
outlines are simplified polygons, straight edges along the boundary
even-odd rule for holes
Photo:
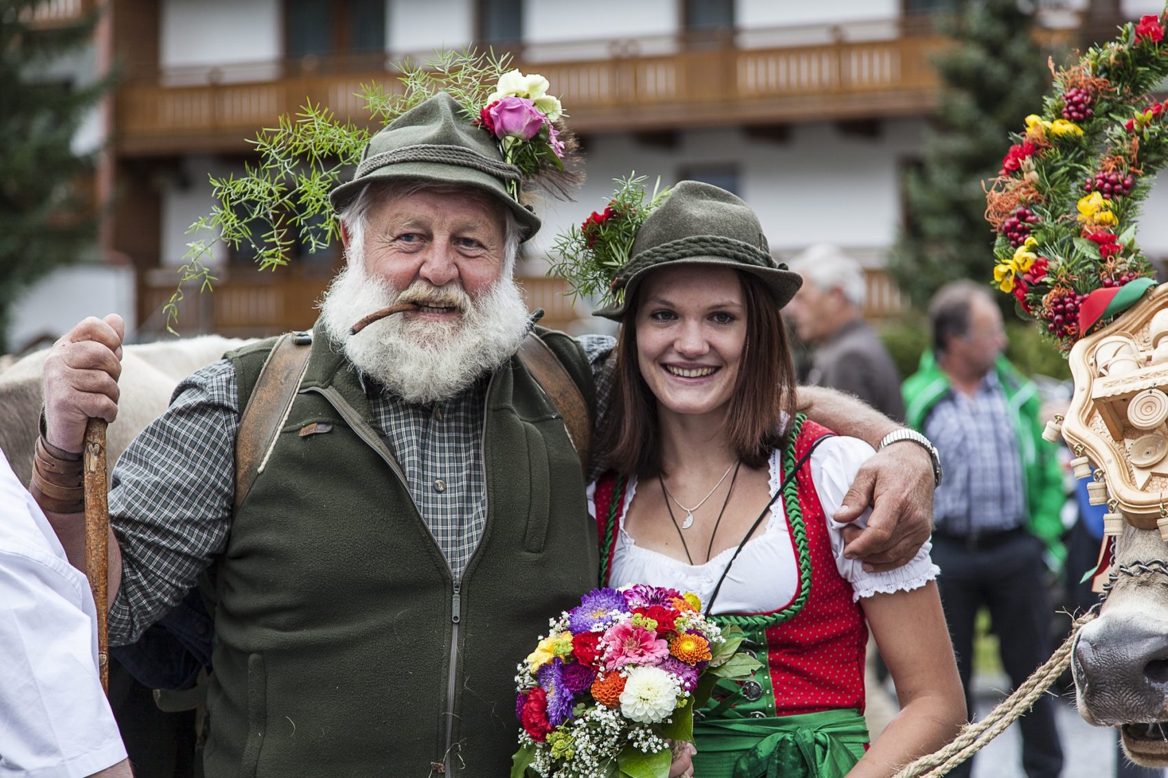
[[[248,498],[256,477],[264,472],[276,437],[292,410],[300,381],[308,369],[312,339],[285,333],[267,354],[235,438],[235,509]]]

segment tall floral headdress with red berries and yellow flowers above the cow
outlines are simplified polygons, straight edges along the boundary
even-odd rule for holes
[[[1073,67],[1051,63],[1054,92],[1013,134],[986,193],[994,284],[1064,353],[1155,284],[1135,218],[1168,162],[1168,104],[1148,97],[1168,76],[1166,13],[1125,25]]]

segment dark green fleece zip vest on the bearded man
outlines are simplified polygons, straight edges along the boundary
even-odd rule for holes
[[[591,393],[578,345],[538,334]],[[272,343],[229,355],[241,404]],[[312,423],[332,429],[300,437]],[[507,774],[515,667],[597,585],[597,540],[564,423],[517,357],[491,378],[482,445],[487,522],[456,588],[318,328],[218,565],[208,776]]]

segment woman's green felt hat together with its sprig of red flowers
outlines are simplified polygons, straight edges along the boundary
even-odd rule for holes
[[[596,315],[619,321],[646,276],[682,265],[746,272],[766,285],[778,307],[791,301],[802,278],[771,256],[763,225],[745,201],[710,183],[682,181],[646,203],[641,181],[620,180],[604,213],[592,214],[556,244],[561,261],[554,271],[578,293],[609,297]]]

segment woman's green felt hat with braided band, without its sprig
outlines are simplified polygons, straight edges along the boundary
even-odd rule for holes
[[[710,183],[682,181],[646,217],[628,264],[612,279],[613,293],[624,294],[595,315],[623,319],[645,277],[667,265],[719,265],[751,273],[766,284],[780,308],[802,285],[799,273],[771,256],[763,225],[744,200]]]

